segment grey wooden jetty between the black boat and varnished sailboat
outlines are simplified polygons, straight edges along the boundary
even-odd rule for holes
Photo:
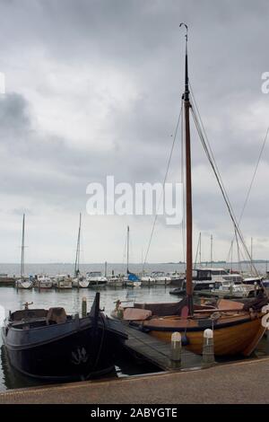
[[[125,347],[132,355],[142,357],[164,371],[175,369],[175,365],[171,360],[170,343],[164,343],[158,338],[154,338],[140,330],[135,330],[129,325],[125,326],[125,330],[128,335]],[[182,347],[181,365],[177,369],[197,369],[201,367],[202,357]]]

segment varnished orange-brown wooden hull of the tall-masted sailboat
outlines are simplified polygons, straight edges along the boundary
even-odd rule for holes
[[[225,323],[216,324],[213,328],[215,356],[249,356],[265,333],[265,328],[261,324],[261,318],[258,317],[251,320],[250,317],[246,318],[245,316],[241,321],[236,318],[234,318],[234,321],[232,321],[232,318],[230,318],[230,321],[229,319],[227,320]],[[199,327],[186,328],[186,324],[184,328],[182,324],[177,326],[176,323],[167,327],[166,330],[163,326],[154,328],[152,326],[153,321],[147,322],[143,325],[150,330],[150,334],[166,342],[170,341],[172,332],[179,331],[182,336],[186,334],[188,340],[187,348],[198,355],[203,353],[204,330],[212,328],[212,324],[199,329]]]

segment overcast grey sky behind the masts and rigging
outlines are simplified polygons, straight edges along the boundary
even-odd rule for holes
[[[121,262],[126,225],[140,262],[152,216],[86,215],[86,187],[107,174],[163,180],[184,89],[184,31],[195,98],[236,215],[269,126],[269,3],[257,0],[0,0],[0,260]],[[232,225],[192,126],[194,243],[226,259]],[[169,180],[180,180],[180,146]],[[242,220],[254,257],[269,259],[265,146]],[[148,261],[183,259],[181,227],[158,222]]]

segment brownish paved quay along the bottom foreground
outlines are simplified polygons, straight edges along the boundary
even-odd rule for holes
[[[0,393],[0,404],[269,403],[269,357],[195,371],[72,382]]]

